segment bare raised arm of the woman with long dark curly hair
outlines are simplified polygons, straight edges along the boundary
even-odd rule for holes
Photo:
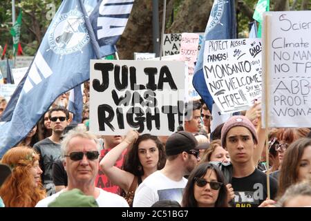
[[[109,178],[109,180],[111,180],[113,184],[120,186],[126,192],[131,186],[131,183],[133,182],[134,175],[127,171],[123,171],[122,169],[119,169],[117,168],[117,166],[114,165],[122,152],[126,148],[129,148],[135,142],[135,140],[137,140],[137,138],[137,131],[129,131],[126,134],[124,140],[120,144],[115,146],[115,148],[112,148],[111,151],[106,153],[106,155],[104,156],[104,158],[102,158],[102,161],[100,162],[100,168]]]

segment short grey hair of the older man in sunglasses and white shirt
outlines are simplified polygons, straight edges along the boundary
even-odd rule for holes
[[[70,140],[73,139],[74,137],[82,137],[82,138],[86,138],[88,140],[94,140],[94,142],[96,143],[97,150],[100,151],[100,142],[97,139],[97,137],[93,133],[86,131],[85,126],[76,126],[75,128],[68,131],[68,133],[66,133],[64,135],[64,138],[63,138],[62,143],[61,143],[62,160],[64,160],[64,155],[67,154],[68,144],[69,144]]]

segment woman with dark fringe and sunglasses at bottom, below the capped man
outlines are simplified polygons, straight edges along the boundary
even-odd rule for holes
[[[227,189],[218,166],[198,165],[188,177],[182,197],[183,207],[228,207]]]

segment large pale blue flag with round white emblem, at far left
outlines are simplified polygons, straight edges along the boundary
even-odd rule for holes
[[[0,158],[8,148],[26,137],[59,95],[89,79],[90,59],[100,57],[85,7],[88,2],[66,0],[57,10],[35,59],[17,88],[19,91],[15,91],[15,97],[8,104],[11,112],[2,119],[6,122],[0,123]],[[102,1],[91,14],[100,6]],[[118,32],[117,36],[121,34]],[[111,55],[111,51],[102,48],[100,53]]]

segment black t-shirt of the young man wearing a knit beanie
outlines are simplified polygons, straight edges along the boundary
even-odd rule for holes
[[[270,177],[270,198],[274,199],[277,192],[277,182]],[[233,207],[257,207],[267,199],[267,176],[255,169],[254,173],[247,177],[232,177],[234,189]]]

